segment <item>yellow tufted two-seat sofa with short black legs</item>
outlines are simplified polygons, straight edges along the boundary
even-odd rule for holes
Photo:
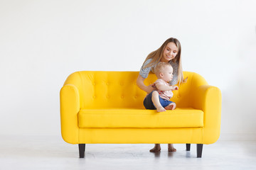
[[[146,93],[138,88],[139,72],[92,72],[70,74],[60,90],[60,121],[63,140],[79,144],[84,157],[85,144],[183,143],[197,144],[201,157],[203,144],[212,144],[220,135],[221,94],[199,74],[188,77],[174,91],[177,108],[157,113],[146,110]],[[145,84],[156,80],[149,74]]]

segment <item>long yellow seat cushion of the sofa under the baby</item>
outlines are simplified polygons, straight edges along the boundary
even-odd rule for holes
[[[80,109],[80,128],[198,128],[203,127],[203,111],[176,108],[157,113],[136,108]]]

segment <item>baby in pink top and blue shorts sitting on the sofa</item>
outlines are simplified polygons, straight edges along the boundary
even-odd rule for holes
[[[144,99],[144,106],[146,109],[156,110],[163,112],[166,110],[174,110],[176,103],[170,101],[171,97],[174,96],[174,90],[178,90],[178,86],[170,86],[169,81],[173,79],[173,68],[171,64],[167,62],[159,62],[155,69],[156,77],[158,78],[154,85],[157,91],[152,91]]]

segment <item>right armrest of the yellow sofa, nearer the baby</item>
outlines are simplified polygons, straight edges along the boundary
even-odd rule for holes
[[[211,144],[220,136],[221,92],[215,86],[202,85],[192,92],[193,108],[203,111],[203,144]]]

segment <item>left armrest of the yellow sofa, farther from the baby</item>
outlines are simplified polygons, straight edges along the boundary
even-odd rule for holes
[[[78,144],[79,111],[80,97],[78,88],[73,84],[65,84],[60,90],[61,135],[65,142]]]

